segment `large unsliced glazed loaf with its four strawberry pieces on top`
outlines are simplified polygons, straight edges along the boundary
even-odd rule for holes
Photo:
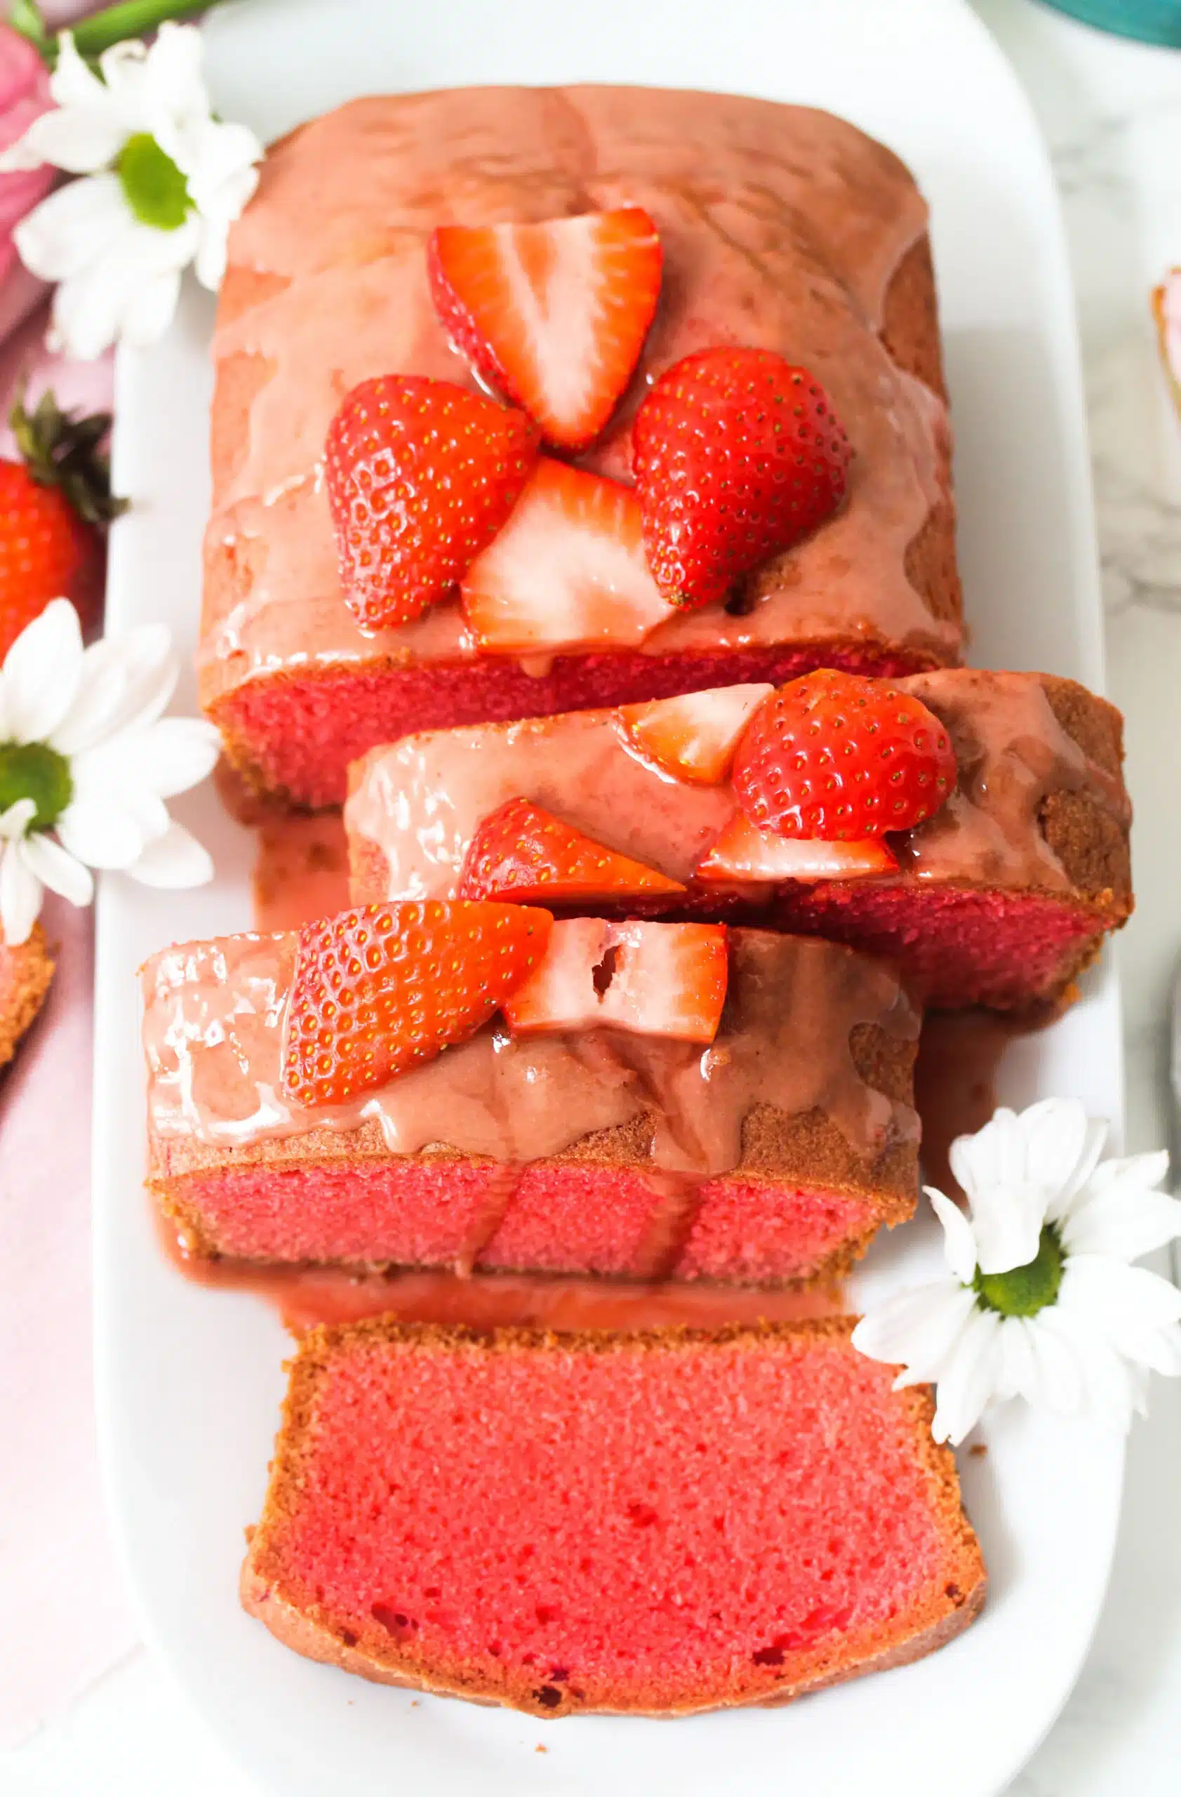
[[[232,762],[318,807],[406,731],[956,663],[926,232],[881,144],[732,95],[374,97],[277,144],[214,341]]]

